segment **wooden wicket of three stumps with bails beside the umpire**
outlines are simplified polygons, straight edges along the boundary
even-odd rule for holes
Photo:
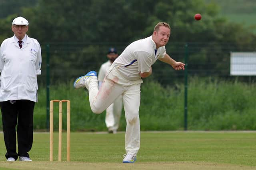
[[[61,161],[62,150],[62,102],[67,102],[67,161],[70,161],[70,100],[50,101],[50,161],[53,161],[53,107],[54,102],[59,103],[59,148],[58,161]]]

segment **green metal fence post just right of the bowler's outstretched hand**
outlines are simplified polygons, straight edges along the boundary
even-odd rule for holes
[[[188,128],[188,44],[185,44],[184,130]]]

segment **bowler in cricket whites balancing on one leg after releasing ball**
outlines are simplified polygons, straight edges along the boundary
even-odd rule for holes
[[[176,62],[165,50],[171,35],[166,22],[156,24],[152,36],[128,45],[113,62],[100,90],[97,73],[90,71],[77,78],[74,88],[87,88],[92,112],[102,113],[122,95],[126,118],[125,150],[123,163],[134,163],[140,149],[140,84],[142,78],[152,74],[152,64],[160,60],[174,70],[184,70],[185,64]]]

